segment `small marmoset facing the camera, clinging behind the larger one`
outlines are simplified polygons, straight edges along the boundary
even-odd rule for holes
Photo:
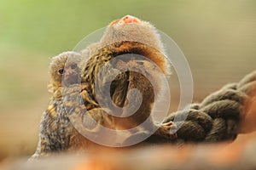
[[[67,114],[68,105],[78,104],[73,103],[75,100],[71,103],[63,101],[63,97],[67,95],[74,97],[82,95],[85,105],[79,107],[79,111],[84,112],[91,107],[90,104],[95,104],[93,99],[90,99],[90,94],[88,94],[88,84],[80,82],[81,69],[79,65],[81,57],[81,54],[71,51],[61,53],[51,59],[48,88],[52,97],[49,100],[48,109],[44,111],[41,118],[38,147],[32,159],[49,156],[60,151],[79,149],[83,144],[91,144],[73,127],[70,119],[78,117],[75,114]],[[81,89],[83,89],[83,92],[80,94]],[[90,104],[86,101],[90,101]],[[90,111],[90,114],[92,118],[97,120],[97,123],[103,124],[102,119],[97,118],[100,112],[95,109]],[[87,116],[87,114],[84,114],[83,121],[86,121],[87,129],[93,131],[97,125],[95,122],[90,122]],[[107,122],[108,118],[105,116],[103,118],[104,122]]]

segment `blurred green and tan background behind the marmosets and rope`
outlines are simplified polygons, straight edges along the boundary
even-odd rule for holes
[[[36,149],[50,57],[125,14],[177,42],[193,73],[195,100],[256,69],[254,0],[1,0],[0,160]]]

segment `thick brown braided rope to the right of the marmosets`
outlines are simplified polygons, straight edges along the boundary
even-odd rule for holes
[[[234,140],[239,133],[241,113],[245,102],[256,90],[256,71],[242,78],[240,82],[225,85],[207,96],[199,104],[189,105],[189,114],[177,131],[175,142],[216,142]],[[172,113],[165,122],[174,120]],[[177,122],[179,123],[179,122]]]

